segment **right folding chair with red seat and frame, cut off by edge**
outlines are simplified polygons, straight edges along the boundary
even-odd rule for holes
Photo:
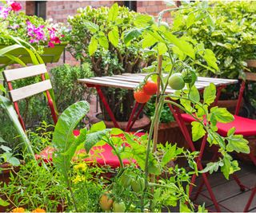
[[[256,63],[252,62],[248,63],[249,67],[253,67],[256,68]],[[223,123],[218,123],[217,127],[218,127],[218,133],[221,136],[227,136],[227,132],[230,130],[230,128],[235,128],[235,132],[234,134],[239,134],[245,137],[256,137],[256,120],[250,119],[250,118],[246,118],[246,117],[242,117],[242,116],[238,116],[239,110],[241,108],[242,105],[242,97],[244,94],[244,91],[246,89],[246,82],[247,81],[256,81],[256,73],[245,73],[245,77],[241,78],[242,82],[240,85],[240,90],[239,90],[239,95],[238,95],[238,104],[235,108],[235,112],[234,112],[234,120],[228,124],[223,124]],[[185,122],[191,123],[194,121],[194,118],[190,115],[187,114],[182,114],[182,120],[184,120]],[[202,143],[204,143],[206,140],[206,137],[203,139]],[[202,149],[203,151],[203,149]],[[253,164],[256,166],[256,156],[254,156],[254,153],[250,150],[250,153],[248,154],[248,156],[250,157],[250,160],[253,162]],[[253,188],[250,187],[246,187],[245,185],[243,185],[240,180],[238,179],[237,176],[233,175],[234,180],[238,183],[240,190],[241,191],[245,191],[245,189],[249,189],[251,190],[251,194],[250,197],[246,203],[246,206],[244,208],[244,211],[249,211],[250,208],[250,204],[252,203],[255,195],[256,195],[256,183],[255,186]],[[197,198],[197,196],[199,195],[200,191],[202,190],[202,186],[203,186],[203,182],[200,184],[200,186],[198,187],[198,191],[196,193],[196,196],[194,199]]]

